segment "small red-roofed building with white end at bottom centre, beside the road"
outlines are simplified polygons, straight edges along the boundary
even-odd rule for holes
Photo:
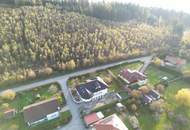
[[[85,125],[88,127],[92,125],[93,123],[101,120],[102,118],[104,118],[104,115],[102,114],[102,112],[92,113],[90,115],[84,116],[84,122],[85,122]]]

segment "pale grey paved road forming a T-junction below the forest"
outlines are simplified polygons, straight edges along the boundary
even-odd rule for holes
[[[110,63],[110,64],[107,64],[107,65],[102,65],[102,66],[98,66],[98,67],[94,67],[94,68],[90,68],[90,69],[86,69],[86,70],[76,71],[76,72],[66,74],[66,75],[63,75],[63,76],[58,76],[58,77],[55,77],[55,78],[50,78],[50,79],[47,79],[47,80],[35,82],[35,83],[29,84],[29,85],[23,85],[23,86],[20,86],[20,87],[16,87],[16,88],[13,88],[13,90],[15,92],[25,91],[25,90],[28,90],[28,89],[36,88],[36,87],[44,85],[44,84],[49,84],[49,83],[52,83],[52,82],[59,82],[60,85],[61,85],[62,91],[64,92],[65,98],[66,98],[67,107],[70,109],[73,118],[72,118],[72,120],[71,120],[71,122],[69,124],[67,124],[64,127],[59,128],[58,130],[86,130],[84,128],[83,122],[82,122],[82,120],[80,118],[80,112],[79,112],[79,108],[78,108],[79,105],[74,103],[74,101],[72,100],[72,97],[71,97],[71,95],[69,93],[69,89],[67,87],[67,80],[70,77],[73,77],[73,76],[78,76],[78,75],[81,75],[81,74],[86,74],[86,73],[94,72],[94,71],[97,71],[97,70],[106,69],[106,68],[109,68],[109,67],[112,67],[112,66],[115,66],[115,65],[120,65],[120,64],[123,64],[123,63],[126,63],[126,62],[130,63],[130,62],[135,62],[135,61],[142,61],[142,62],[144,62],[144,65],[146,67],[150,63],[152,57],[153,56],[140,57],[140,58],[135,58],[135,59],[130,59],[130,60],[124,60],[124,61],[121,61],[121,62]]]

